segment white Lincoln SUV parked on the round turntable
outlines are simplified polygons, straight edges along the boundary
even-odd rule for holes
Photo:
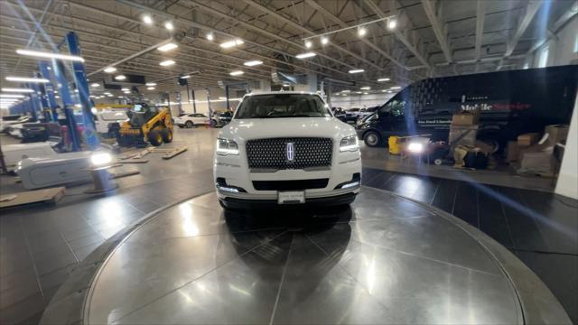
[[[358,137],[314,93],[249,94],[219,132],[213,172],[225,208],[349,204],[361,182]]]

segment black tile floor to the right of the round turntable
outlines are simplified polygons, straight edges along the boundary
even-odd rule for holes
[[[578,323],[578,201],[553,193],[364,168],[366,186],[443,209],[522,260]]]

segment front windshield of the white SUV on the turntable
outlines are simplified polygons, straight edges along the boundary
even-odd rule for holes
[[[316,95],[270,94],[243,99],[235,118],[331,117],[329,106]]]

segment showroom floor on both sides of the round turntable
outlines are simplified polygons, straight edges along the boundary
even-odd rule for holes
[[[82,191],[89,185],[83,185],[70,188],[70,196],[54,207],[3,210],[0,322],[39,320],[70,270],[106,238],[154,209],[212,191],[211,160],[217,132],[177,130],[172,145],[186,144],[189,151],[170,161],[149,155],[147,164],[123,167],[137,169],[141,174],[118,180],[120,189],[114,195],[87,196]],[[0,137],[0,141],[5,144],[6,139]],[[362,149],[364,166],[386,168],[380,158],[383,151]],[[3,193],[22,190],[13,177],[0,176],[0,182]],[[375,169],[364,170],[363,182],[431,203],[482,229],[516,252],[555,292],[573,320],[577,320],[577,302],[572,293],[578,283],[575,201],[500,187],[489,188],[504,194],[502,197],[484,195],[491,192],[472,189],[467,181]],[[472,207],[476,207],[473,215]],[[500,217],[494,218],[498,212]],[[508,241],[515,244],[508,246]]]

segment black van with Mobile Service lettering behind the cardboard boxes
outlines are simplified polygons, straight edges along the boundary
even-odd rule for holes
[[[503,145],[545,125],[568,124],[578,66],[509,70],[416,81],[357,125],[368,146],[390,135],[448,140],[452,115],[480,109],[478,138]]]

